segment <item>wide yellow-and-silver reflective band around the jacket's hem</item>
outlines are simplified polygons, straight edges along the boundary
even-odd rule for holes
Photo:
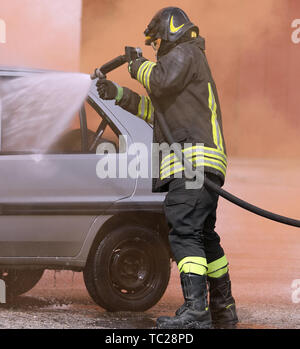
[[[185,148],[182,151],[186,158],[189,159],[196,168],[199,166],[208,166],[220,171],[224,177],[226,176],[226,155],[217,149],[204,146],[193,146]],[[177,159],[176,155],[174,153],[168,154],[162,159],[160,178],[163,180],[184,170],[185,167],[182,162]]]

